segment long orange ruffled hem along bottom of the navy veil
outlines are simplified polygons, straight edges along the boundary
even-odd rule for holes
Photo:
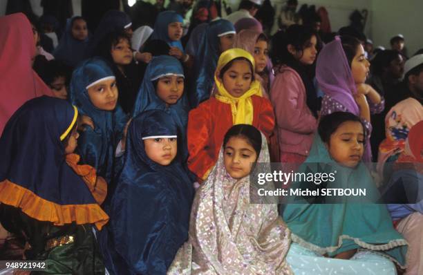
[[[57,205],[57,203],[44,200],[32,191],[9,180],[0,182],[0,202],[20,208],[31,218],[53,222],[57,226],[71,222],[76,222],[77,225],[91,223],[100,230],[109,221],[109,216],[96,203]]]

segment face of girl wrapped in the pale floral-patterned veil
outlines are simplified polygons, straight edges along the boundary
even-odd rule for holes
[[[238,180],[250,175],[251,164],[256,160],[257,153],[245,138],[229,138],[223,150],[223,162],[229,176]]]

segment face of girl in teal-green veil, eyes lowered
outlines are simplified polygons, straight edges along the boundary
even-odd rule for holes
[[[364,152],[364,129],[360,122],[348,121],[339,125],[326,144],[330,156],[345,167],[354,168]]]

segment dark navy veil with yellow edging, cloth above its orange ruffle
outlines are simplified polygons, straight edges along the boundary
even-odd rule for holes
[[[0,182],[9,180],[58,205],[96,204],[84,180],[66,163],[60,136],[75,110],[54,97],[36,97],[10,117],[0,138]]]

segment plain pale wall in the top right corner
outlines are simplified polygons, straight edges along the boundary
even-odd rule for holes
[[[372,0],[373,42],[391,48],[389,40],[402,33],[408,56],[423,48],[422,0]]]

